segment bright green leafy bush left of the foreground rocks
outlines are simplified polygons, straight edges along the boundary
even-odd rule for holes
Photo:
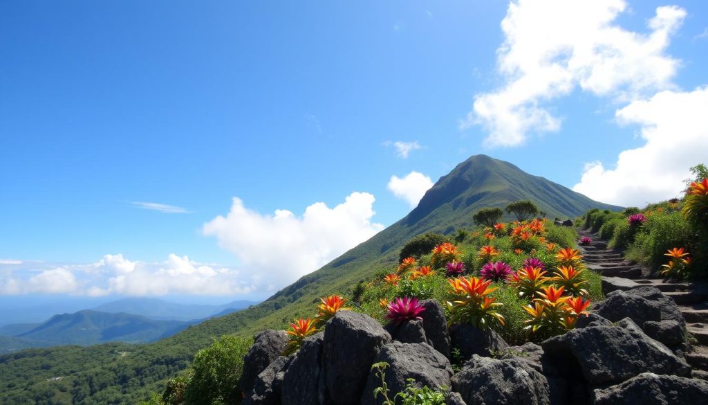
[[[239,379],[250,347],[248,339],[224,335],[200,350],[194,357],[193,375],[184,390],[185,402],[190,405],[239,403]]]

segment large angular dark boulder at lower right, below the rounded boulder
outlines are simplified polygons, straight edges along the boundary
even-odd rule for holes
[[[564,338],[590,385],[617,384],[642,372],[688,375],[691,370],[665,345],[633,328],[590,326]]]

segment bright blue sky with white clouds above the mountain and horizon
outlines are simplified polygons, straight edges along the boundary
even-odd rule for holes
[[[563,3],[2,2],[0,292],[266,296],[478,153],[601,201],[670,198],[707,156],[708,6]],[[317,202],[344,206],[303,220]],[[252,240],[306,252],[278,273]],[[239,281],[142,291],[117,276],[135,268]]]

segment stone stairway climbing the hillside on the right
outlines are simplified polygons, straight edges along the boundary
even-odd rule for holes
[[[653,277],[641,266],[627,262],[622,254],[607,248],[607,241],[600,235],[578,229],[582,238],[588,236],[593,242],[583,245],[583,259],[589,269],[602,274],[603,292],[627,290],[641,286],[656,287],[670,296],[679,306],[686,321],[686,329],[697,340],[700,352],[708,353],[708,288],[700,284],[664,282]]]

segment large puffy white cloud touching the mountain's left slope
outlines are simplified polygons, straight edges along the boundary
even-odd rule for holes
[[[318,202],[297,217],[287,210],[251,211],[234,197],[227,216],[205,223],[203,232],[215,236],[259,282],[278,288],[381,231],[381,224],[371,222],[374,201],[372,194],[353,192],[333,209]]]

